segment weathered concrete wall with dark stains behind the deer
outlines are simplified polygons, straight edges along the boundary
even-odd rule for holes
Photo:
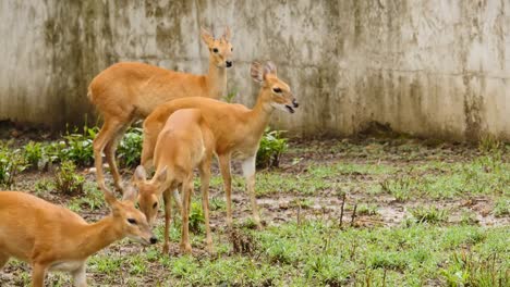
[[[271,59],[302,104],[274,125],[295,135],[377,121],[510,140],[508,0],[3,0],[0,22],[0,118],[80,123],[89,80],[118,61],[205,72],[199,26],[228,24],[229,90],[253,104],[250,62]]]

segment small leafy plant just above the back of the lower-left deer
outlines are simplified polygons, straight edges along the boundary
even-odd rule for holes
[[[68,196],[83,194],[85,178],[76,173],[76,165],[71,161],[64,161],[54,174],[54,187]]]

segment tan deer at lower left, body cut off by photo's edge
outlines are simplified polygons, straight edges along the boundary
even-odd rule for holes
[[[42,287],[48,271],[69,272],[74,286],[87,286],[87,258],[130,237],[156,244],[145,215],[135,209],[136,191],[122,201],[104,190],[111,214],[88,224],[78,214],[35,196],[0,191],[0,269],[13,257],[31,263],[32,286]]]

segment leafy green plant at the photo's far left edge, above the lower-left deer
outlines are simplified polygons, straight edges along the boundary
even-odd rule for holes
[[[13,186],[16,176],[26,167],[21,149],[11,149],[10,142],[0,142],[0,186],[8,188]]]

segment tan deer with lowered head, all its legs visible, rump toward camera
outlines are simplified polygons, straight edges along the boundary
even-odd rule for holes
[[[172,214],[171,191],[180,187],[182,197],[182,236],[181,250],[191,253],[189,239],[190,198],[193,190],[193,170],[198,167],[203,210],[206,225],[207,249],[212,251],[212,238],[209,227],[209,178],[212,159],[214,139],[210,128],[197,109],[183,109],[168,117],[159,133],[154,152],[156,173],[147,180],[145,169],[139,165],[134,173],[134,183],[138,188],[139,210],[151,225],[158,214],[158,202],[162,195],[165,203],[165,245],[163,253],[169,250],[169,228]]]

